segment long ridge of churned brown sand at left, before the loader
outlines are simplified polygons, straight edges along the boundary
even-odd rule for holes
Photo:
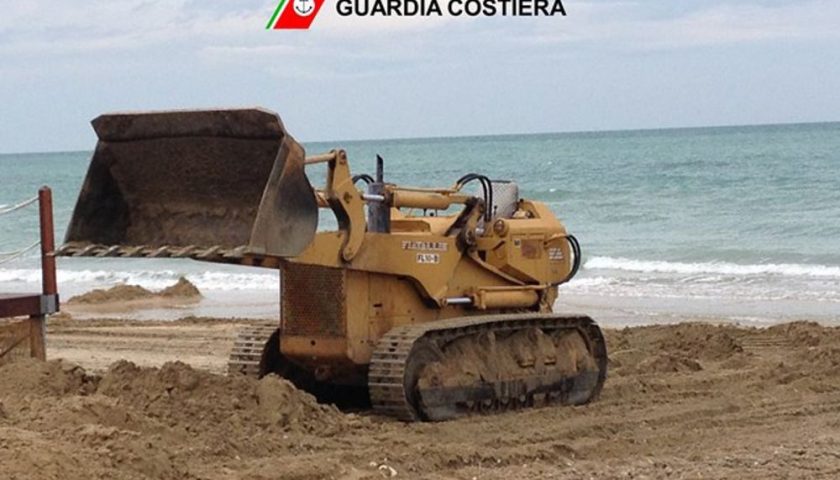
[[[328,434],[340,430],[347,420],[335,407],[317,403],[280,377],[228,377],[181,362],[142,368],[120,361],[100,377],[61,360],[25,359],[0,368],[0,379],[0,401],[7,403],[49,397],[48,403],[67,410],[79,410],[85,402],[117,405],[192,432],[239,424],[246,429]]]

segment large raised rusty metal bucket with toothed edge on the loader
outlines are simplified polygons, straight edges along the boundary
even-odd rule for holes
[[[291,257],[315,235],[303,147],[273,112],[113,113],[92,124],[99,141],[59,254]]]

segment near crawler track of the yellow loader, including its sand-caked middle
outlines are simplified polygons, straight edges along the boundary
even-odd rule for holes
[[[566,355],[566,335],[582,340],[585,357],[566,352],[572,360],[559,360]],[[528,349],[523,339],[534,340],[530,352],[522,352]],[[540,346],[546,340],[555,353]],[[493,348],[504,342],[508,349],[517,347],[518,369],[481,364],[496,358]],[[480,351],[482,345],[490,350]],[[477,356],[465,357],[470,348],[479,350]],[[447,378],[447,369],[451,373],[453,368],[460,370]],[[604,338],[589,317],[494,315],[395,328],[373,354],[368,386],[376,412],[404,421],[438,421],[551,402],[583,404],[598,395],[606,370]]]

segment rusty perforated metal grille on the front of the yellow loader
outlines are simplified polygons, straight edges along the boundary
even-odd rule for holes
[[[346,317],[344,270],[299,264],[284,267],[284,334],[341,337]]]

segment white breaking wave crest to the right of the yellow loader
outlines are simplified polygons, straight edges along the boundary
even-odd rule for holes
[[[765,263],[743,265],[729,262],[666,262],[635,260],[622,257],[592,257],[583,268],[586,270],[624,270],[643,273],[680,273],[686,275],[785,275],[797,277],[840,278],[840,266],[808,265],[801,263]]]

